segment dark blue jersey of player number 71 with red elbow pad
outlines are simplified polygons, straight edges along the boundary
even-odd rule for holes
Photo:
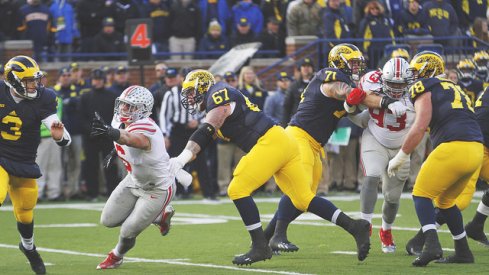
[[[322,84],[335,81],[355,87],[350,77],[338,69],[320,70],[304,89],[297,113],[290,121],[290,125],[305,130],[322,146],[328,142],[338,121],[346,114],[343,100],[327,97],[321,92]]]

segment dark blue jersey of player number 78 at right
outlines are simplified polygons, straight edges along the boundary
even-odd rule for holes
[[[431,92],[430,137],[433,148],[449,141],[483,142],[470,98],[460,86],[447,79],[426,78],[411,86],[411,100]]]

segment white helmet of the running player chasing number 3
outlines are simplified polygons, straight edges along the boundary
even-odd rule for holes
[[[119,122],[132,123],[149,117],[153,104],[153,94],[148,89],[130,86],[115,100],[114,115]]]

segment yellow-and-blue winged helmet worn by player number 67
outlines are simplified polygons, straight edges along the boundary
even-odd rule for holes
[[[214,76],[206,70],[193,70],[182,83],[182,105],[190,114],[200,110],[205,95],[216,84]]]

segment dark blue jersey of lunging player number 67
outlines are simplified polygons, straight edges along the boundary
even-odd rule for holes
[[[212,86],[206,94],[205,101],[207,112],[234,102],[233,113],[226,118],[217,134],[223,140],[235,143],[247,153],[258,139],[276,124],[239,90],[224,82]]]

